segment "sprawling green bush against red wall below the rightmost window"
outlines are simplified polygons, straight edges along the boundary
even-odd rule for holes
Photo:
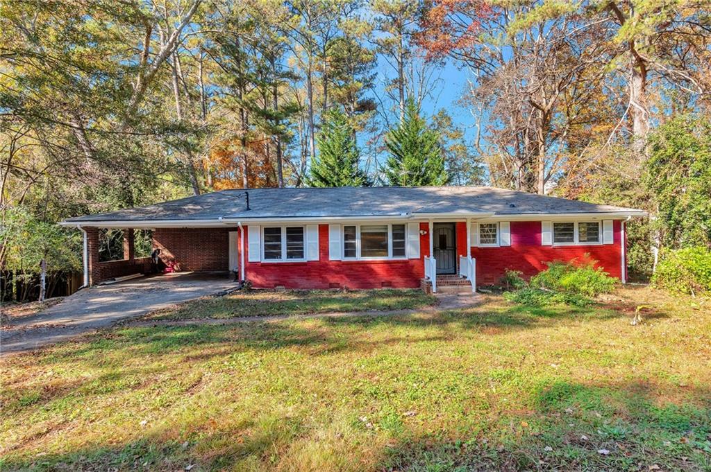
[[[601,268],[595,268],[595,261],[586,257],[582,262],[570,263],[556,260],[547,263],[548,268],[530,280],[531,287],[546,288],[556,292],[595,297],[614,290],[617,279],[610,277]]]

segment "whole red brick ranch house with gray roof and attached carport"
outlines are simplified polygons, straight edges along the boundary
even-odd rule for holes
[[[493,187],[223,190],[62,222],[84,231],[85,285],[145,273],[134,229],[164,262],[233,270],[257,288],[496,284],[588,253],[626,280],[625,222],[636,209]],[[124,229],[124,260],[99,262],[99,229]]]

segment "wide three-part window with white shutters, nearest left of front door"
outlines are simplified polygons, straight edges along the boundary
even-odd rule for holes
[[[404,224],[343,226],[344,259],[405,258]]]

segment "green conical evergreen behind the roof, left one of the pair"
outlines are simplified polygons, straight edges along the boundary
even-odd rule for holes
[[[369,186],[367,175],[358,165],[360,150],[348,118],[336,107],[328,110],[324,118],[316,138],[319,155],[311,163],[311,187]]]

